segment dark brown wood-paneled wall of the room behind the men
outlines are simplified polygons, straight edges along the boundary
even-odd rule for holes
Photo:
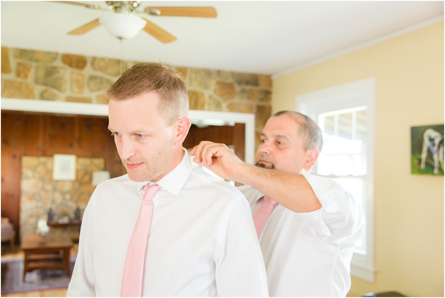
[[[126,171],[107,127],[107,117],[1,112],[1,216],[9,218],[16,235],[20,223],[21,157],[102,157],[111,177],[121,176]],[[183,146],[193,148],[202,140],[234,145],[235,153],[244,160],[244,134],[243,123],[234,127],[192,125]]]

